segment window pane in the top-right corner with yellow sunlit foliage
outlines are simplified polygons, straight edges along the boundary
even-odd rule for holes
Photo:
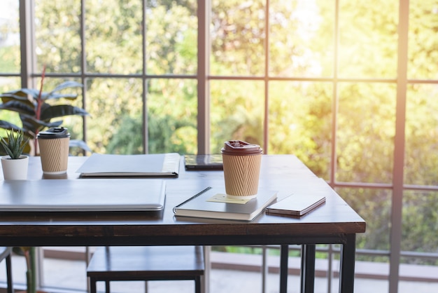
[[[409,1],[410,79],[438,79],[438,0]]]

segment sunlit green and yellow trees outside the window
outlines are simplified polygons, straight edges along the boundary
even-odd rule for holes
[[[80,3],[37,1],[38,67],[47,64],[48,72],[80,72]],[[398,5],[397,0],[339,1],[339,38],[335,39],[334,1],[272,0],[266,20],[264,1],[212,0],[211,152],[217,153],[227,139],[261,145],[267,139],[263,147],[269,154],[295,154],[325,179],[392,184],[395,78],[400,74]],[[435,85],[415,83],[438,76],[437,5],[437,0],[409,1],[407,77],[412,82],[407,121],[402,125],[405,184],[438,184],[438,90]],[[196,153],[197,1],[151,0],[144,11],[145,23],[141,1],[85,3],[87,72],[130,74],[126,79],[87,79],[85,106],[95,117],[86,123],[87,142],[92,151],[102,153],[136,154],[146,149]],[[146,29],[145,40],[142,29]],[[269,60],[264,57],[267,49]],[[271,78],[268,101],[264,100],[265,73]],[[162,78],[167,74],[169,79]],[[175,74],[184,79],[174,78]],[[225,75],[231,79],[222,79]],[[236,76],[250,78],[233,80]],[[349,78],[357,81],[343,80]],[[79,135],[83,125],[66,119]],[[141,129],[142,121],[147,121],[147,130]],[[264,123],[268,137],[263,137]],[[148,146],[143,146],[143,135],[148,135]],[[386,189],[340,189],[339,193],[368,222],[358,247],[387,250],[391,197],[401,195]],[[404,218],[403,233],[416,238],[404,238],[403,247],[437,250],[431,240],[436,236],[434,196],[405,196],[404,213],[409,218]],[[427,217],[413,217],[416,213]]]

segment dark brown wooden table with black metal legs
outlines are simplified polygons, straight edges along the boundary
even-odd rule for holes
[[[30,159],[28,179],[48,179],[42,175],[39,158]],[[67,174],[51,179],[77,179],[76,170],[85,159],[69,158]],[[353,292],[355,235],[364,233],[366,224],[337,193],[333,191],[325,205],[300,219],[266,214],[253,222],[176,218],[172,212],[175,205],[206,186],[223,186],[221,171],[185,171],[183,163],[180,170],[178,178],[167,179],[162,212],[6,212],[0,217],[0,245],[282,245],[280,292],[283,293],[287,290],[288,245],[302,245],[302,292],[313,292],[315,245],[340,244],[339,292]],[[279,198],[292,192],[311,193],[314,179],[315,175],[295,156],[262,158],[259,187],[278,190]]]

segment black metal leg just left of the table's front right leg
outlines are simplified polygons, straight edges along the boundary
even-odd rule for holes
[[[302,245],[301,255],[301,292],[312,293],[315,287],[316,245]]]

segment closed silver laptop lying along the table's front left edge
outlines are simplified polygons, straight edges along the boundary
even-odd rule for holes
[[[165,194],[162,179],[3,180],[0,211],[159,211]]]

